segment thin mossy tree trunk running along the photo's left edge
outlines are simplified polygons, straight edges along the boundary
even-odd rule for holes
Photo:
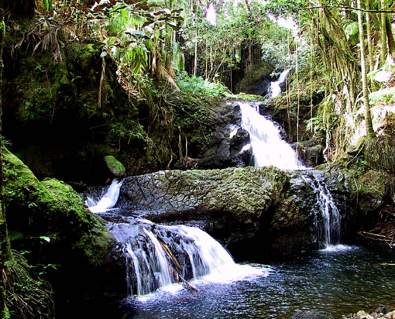
[[[5,32],[5,24],[3,18],[3,0],[0,0],[0,317],[7,318],[8,309],[5,304],[5,278],[3,276],[5,263],[11,259],[11,249],[9,246],[7,223],[5,221],[4,200],[3,200],[3,165],[2,165],[2,139],[1,139],[1,89],[2,89],[2,43]]]

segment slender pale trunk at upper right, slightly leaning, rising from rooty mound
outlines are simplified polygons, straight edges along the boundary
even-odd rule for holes
[[[356,1],[357,8],[361,8],[361,0]],[[365,44],[363,39],[363,22],[362,13],[357,11],[358,15],[358,29],[359,29],[359,48],[361,54],[361,73],[362,73],[362,94],[363,94],[363,107],[366,122],[366,136],[368,139],[374,138],[374,130],[372,125],[372,117],[369,109],[369,94],[367,90],[367,75],[366,75],[366,64],[365,64]]]

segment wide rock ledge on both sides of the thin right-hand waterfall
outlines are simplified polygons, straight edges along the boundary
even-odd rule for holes
[[[377,172],[356,174],[339,166],[322,166],[316,173],[275,167],[160,171],[125,178],[117,206],[157,223],[200,225],[238,260],[261,261],[321,247],[315,221],[323,217],[304,178],[313,174],[337,204],[342,242],[354,240],[384,203]]]

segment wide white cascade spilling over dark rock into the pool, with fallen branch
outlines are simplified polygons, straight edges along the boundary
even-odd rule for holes
[[[127,242],[126,251],[133,264],[128,275],[129,291],[137,292],[143,299],[157,289],[167,292],[181,289],[179,284],[175,285],[180,282],[175,272],[192,283],[224,284],[268,276],[270,272],[265,266],[235,263],[220,243],[197,227],[141,222],[144,228],[139,236],[145,240]],[[171,236],[166,237],[169,233]],[[174,259],[181,269],[177,269]]]

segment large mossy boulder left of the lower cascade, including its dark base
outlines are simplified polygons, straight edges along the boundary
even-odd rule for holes
[[[125,291],[123,259],[115,238],[71,186],[56,179],[40,182],[7,150],[4,169],[11,247],[30,251],[31,264],[56,265],[57,270],[47,274],[56,295],[80,300],[116,297]]]

